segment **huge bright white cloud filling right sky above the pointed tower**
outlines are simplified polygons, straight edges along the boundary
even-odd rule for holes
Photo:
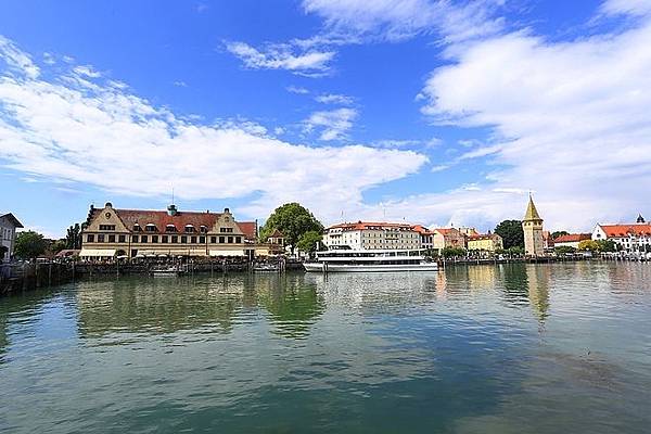
[[[648,4],[617,0],[603,8],[640,15]],[[649,15],[626,30],[571,41],[520,31],[476,42],[432,73],[423,113],[444,125],[492,128],[492,143],[458,162],[488,158],[496,169],[481,195],[417,200],[454,203],[460,208],[448,212],[470,219],[501,218],[518,216],[524,202],[505,194],[531,189],[556,227],[630,220],[651,189],[649,89]]]

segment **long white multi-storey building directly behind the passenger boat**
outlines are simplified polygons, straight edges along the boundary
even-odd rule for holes
[[[340,224],[326,229],[323,244],[353,250],[421,248],[421,235],[407,224],[366,222]]]

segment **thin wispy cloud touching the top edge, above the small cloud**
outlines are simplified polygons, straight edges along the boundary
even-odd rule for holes
[[[448,42],[490,35],[502,28],[493,11],[499,0],[454,4],[448,0],[303,0],[308,13],[321,16],[334,35],[352,40],[371,37],[401,40],[437,31]]]

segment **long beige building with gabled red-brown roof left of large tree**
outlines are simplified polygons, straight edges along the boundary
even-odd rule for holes
[[[238,222],[224,213],[90,207],[81,231],[82,259],[151,256],[248,256],[255,250],[256,224]]]

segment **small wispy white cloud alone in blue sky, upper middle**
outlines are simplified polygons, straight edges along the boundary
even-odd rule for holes
[[[335,54],[333,51],[319,51],[316,49],[295,53],[294,48],[286,43],[268,44],[261,51],[244,42],[227,42],[226,48],[237,55],[246,67],[253,69],[288,69],[307,76],[318,76],[327,73]]]

